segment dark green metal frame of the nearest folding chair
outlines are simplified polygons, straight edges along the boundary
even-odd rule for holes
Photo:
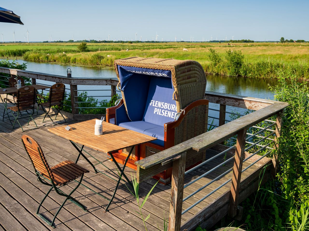
[[[22,140],[22,142],[23,142],[23,140]],[[36,211],[36,215],[38,215],[41,219],[43,219],[43,220],[44,220],[48,225],[50,225],[52,228],[55,228],[55,226],[53,225],[53,223],[54,223],[54,221],[55,221],[55,219],[56,219],[58,213],[60,212],[60,210],[62,209],[62,207],[64,206],[64,204],[66,203],[67,200],[73,202],[75,205],[77,205],[78,207],[82,208],[84,211],[89,212],[89,211],[86,209],[86,207],[85,207],[82,203],[80,203],[79,201],[77,201],[74,197],[71,197],[72,193],[74,193],[75,190],[76,190],[76,189],[79,187],[79,185],[82,183],[84,173],[80,176],[81,178],[80,178],[79,181],[76,180],[78,177],[76,177],[76,178],[74,179],[76,182],[78,182],[77,186],[76,186],[69,194],[66,194],[66,193],[64,193],[62,190],[60,190],[59,188],[61,188],[61,187],[63,187],[63,186],[66,186],[68,183],[72,182],[73,180],[68,181],[68,182],[66,182],[65,184],[62,184],[61,186],[57,187],[56,184],[54,183],[54,181],[53,181],[53,180],[50,180],[50,179],[52,179],[52,177],[51,177],[51,175],[50,175],[50,173],[49,173],[48,167],[46,166],[46,164],[45,164],[45,162],[44,162],[44,160],[43,160],[44,153],[40,151],[40,148],[38,147],[38,148],[37,148],[37,151],[38,151],[38,153],[39,153],[39,155],[40,155],[40,158],[41,158],[41,160],[42,160],[42,163],[44,164],[44,167],[45,167],[46,171],[48,172],[49,179],[46,178],[45,176],[43,176],[42,174],[40,174],[40,172],[38,172],[38,171],[36,170],[36,167],[35,167],[34,164],[33,164],[32,158],[31,158],[31,156],[29,155],[29,153],[28,153],[28,151],[27,151],[27,148],[26,148],[24,142],[23,142],[23,146],[24,146],[24,148],[25,148],[25,150],[26,150],[26,152],[27,152],[27,154],[28,154],[28,156],[29,156],[29,158],[30,158],[30,160],[31,160],[32,166],[33,166],[33,168],[34,168],[34,170],[35,170],[35,173],[36,173],[36,176],[37,176],[37,180],[40,181],[42,184],[45,184],[45,185],[50,186],[48,192],[46,193],[46,195],[44,196],[44,198],[43,198],[42,201],[40,202],[40,205],[39,205],[39,207],[38,207],[38,209],[37,209],[37,211]],[[46,182],[46,181],[47,181],[47,182]],[[57,213],[56,213],[55,216],[53,217],[53,220],[52,220],[52,221],[49,221],[48,218],[45,217],[44,215],[40,214],[39,211],[40,211],[41,205],[43,204],[43,202],[45,201],[45,199],[47,198],[48,194],[49,194],[51,191],[55,191],[58,195],[63,196],[63,197],[66,197],[66,199],[63,201],[63,203],[61,204],[60,208],[57,210]]]

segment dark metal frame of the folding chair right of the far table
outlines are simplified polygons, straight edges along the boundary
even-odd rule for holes
[[[59,104],[58,105],[52,105],[52,99],[53,99],[53,95],[55,94],[55,92],[53,92],[53,90],[55,89],[55,88],[53,88],[53,87],[57,87],[57,85],[59,85],[59,84],[61,84],[61,86],[63,86],[63,87],[60,87],[60,88],[58,88],[58,89],[63,89],[63,95],[62,95],[62,99],[59,101]],[[57,89],[57,88],[56,88]],[[62,113],[61,113],[61,110],[62,110],[62,108],[63,108],[63,100],[64,100],[64,95],[65,95],[65,93],[66,93],[66,88],[65,88],[65,85],[63,84],[63,83],[56,83],[56,84],[54,84],[53,86],[51,86],[50,87],[50,90],[49,90],[49,99],[48,99],[48,102],[49,102],[49,106],[45,106],[45,105],[43,105],[42,103],[41,103],[41,101],[40,101],[40,103],[38,103],[38,111],[39,111],[39,107],[41,106],[42,107],[42,109],[43,109],[43,111],[44,111],[44,113],[45,113],[45,116],[44,116],[44,118],[43,118],[43,123],[44,123],[44,120],[45,120],[45,118],[46,118],[46,116],[48,116],[49,117],[49,119],[53,122],[53,124],[55,125],[55,122],[53,121],[53,119],[50,117],[50,111],[52,111],[53,112],[53,110],[51,110],[51,108],[53,107],[53,106],[57,106],[57,107],[54,107],[57,111],[56,111],[56,117],[55,117],[55,120],[57,120],[57,116],[58,116],[58,114],[60,113],[60,115],[62,116],[62,118],[64,119],[64,121],[66,122],[66,118],[64,118],[64,116],[62,115]],[[43,98],[42,96],[40,96],[40,95],[38,95],[41,99],[45,99],[45,98]],[[40,100],[41,100],[40,99]],[[45,107],[48,107],[49,108],[49,110],[47,111],[46,110],[46,108]],[[37,113],[38,113],[38,111],[37,111]]]

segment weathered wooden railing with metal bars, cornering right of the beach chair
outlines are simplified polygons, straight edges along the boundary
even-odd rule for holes
[[[237,205],[240,203],[239,189],[241,173],[248,168],[242,168],[243,161],[251,158],[251,160],[255,160],[253,162],[253,164],[255,164],[265,156],[269,156],[273,153],[273,169],[277,168],[277,156],[276,152],[273,151],[273,149],[276,149],[278,147],[277,138],[280,136],[282,116],[284,108],[288,106],[287,103],[267,99],[228,95],[209,91],[206,91],[205,98],[208,99],[210,103],[220,104],[219,109],[213,109],[219,112],[218,118],[213,117],[218,119],[219,126],[217,126],[217,128],[206,132],[200,136],[197,136],[193,139],[187,140],[172,148],[166,149],[162,152],[156,153],[152,156],[135,162],[135,164],[137,165],[138,182],[142,182],[143,180],[146,180],[151,176],[162,172],[163,170],[173,167],[171,179],[169,230],[192,230],[197,224],[203,222],[205,217],[207,217],[207,213],[210,213],[210,209],[206,207],[202,209],[198,214],[195,214],[192,218],[187,220],[183,225],[181,225],[181,215],[190,209],[188,208],[182,211],[182,203],[186,199],[183,198],[184,187],[186,187],[186,185],[184,185],[185,161],[187,158],[190,159],[193,157],[189,155],[194,155],[188,155],[188,153],[194,153],[188,152],[189,150],[193,149],[201,152],[206,149],[215,148],[216,150],[222,151],[218,155],[222,155],[222,153],[225,152],[235,154],[233,157],[234,167],[232,169],[232,178],[227,180],[224,184],[220,186],[222,187],[226,183],[231,181],[231,193],[228,205],[228,214],[231,217],[235,217]],[[226,113],[238,115],[237,113],[226,111],[227,106],[246,108],[255,111],[247,115],[243,115],[242,117],[235,119],[231,122],[225,123],[226,121],[229,121],[226,120]],[[276,117],[276,121],[270,120],[271,117],[273,118],[274,116]],[[270,123],[270,125],[265,128],[260,128],[259,126],[256,126],[262,121],[266,121],[265,123]],[[275,130],[272,130],[271,126],[274,126],[275,128],[273,129]],[[262,136],[262,132],[256,132],[256,134],[249,133],[247,130],[251,127],[260,129],[260,131],[262,132],[267,131],[270,135],[274,136],[274,139],[270,138],[272,137],[270,135]],[[235,136],[237,136],[237,138],[235,138]],[[269,144],[267,145],[260,145],[260,141],[252,143],[250,142],[250,139],[252,139],[252,137],[261,137],[262,141],[270,140],[271,142],[269,142]],[[222,145],[224,141],[229,139],[235,139],[236,144],[230,148]],[[246,144],[247,146],[250,146],[245,149]],[[269,147],[271,146],[270,144],[275,145],[273,145],[273,148],[271,148]],[[259,150],[252,154],[249,152],[249,149],[254,146],[258,147]],[[267,152],[265,150],[267,150]],[[265,151],[263,152],[263,155],[258,156],[258,154],[260,154],[262,151]],[[207,162],[207,160],[205,162]],[[205,174],[207,174],[207,172]],[[205,197],[208,197],[208,195],[206,195]],[[217,206],[217,208],[219,210],[220,206]]]

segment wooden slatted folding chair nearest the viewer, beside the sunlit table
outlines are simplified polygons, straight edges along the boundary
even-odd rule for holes
[[[67,200],[72,201],[74,204],[81,207],[84,211],[88,212],[86,207],[83,204],[81,204],[79,201],[71,197],[71,195],[82,183],[84,173],[89,172],[89,171],[86,168],[83,168],[82,166],[75,164],[71,160],[66,160],[53,167],[50,167],[44,156],[44,153],[42,152],[40,145],[32,137],[28,135],[23,135],[21,138],[22,138],[23,146],[31,160],[31,163],[36,173],[38,181],[40,181],[42,184],[50,186],[49,191],[44,196],[43,200],[41,201],[36,211],[36,215],[42,218],[51,227],[55,228],[55,226],[53,226],[53,223],[58,213],[60,212],[61,208],[63,207],[63,205],[66,203]],[[79,181],[76,180],[78,177],[81,177]],[[73,180],[77,181],[78,185],[69,194],[66,194],[59,189],[60,187],[65,186],[66,184],[68,184],[69,182]],[[66,199],[61,204],[57,213],[53,217],[53,220],[50,222],[49,220],[47,220],[46,217],[44,217],[42,214],[39,213],[39,210],[40,210],[40,207],[43,201],[46,199],[48,194],[53,189],[60,196],[66,197]]]

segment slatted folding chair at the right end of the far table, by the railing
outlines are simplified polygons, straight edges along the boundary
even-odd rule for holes
[[[62,110],[62,107],[63,107],[63,100],[64,100],[65,93],[66,93],[66,87],[65,87],[65,85],[63,83],[56,83],[56,84],[54,84],[53,86],[50,87],[49,99],[47,100],[47,102],[39,103],[39,105],[38,105],[38,110],[39,110],[39,107],[41,106],[43,111],[45,112],[45,116],[44,116],[43,122],[44,122],[46,116],[48,116],[49,119],[55,125],[53,119],[49,115],[50,112],[53,112],[51,107],[54,107],[57,110],[56,111],[56,118],[55,118],[55,120],[57,119],[58,113],[60,113],[60,115],[63,117],[64,121],[66,122],[66,118],[64,118],[64,116],[62,115],[62,113],[60,111],[60,110]],[[38,96],[42,100],[45,99],[41,95],[38,95]],[[55,107],[55,106],[57,106],[57,107]],[[46,108],[48,108],[48,111],[47,111]]]

